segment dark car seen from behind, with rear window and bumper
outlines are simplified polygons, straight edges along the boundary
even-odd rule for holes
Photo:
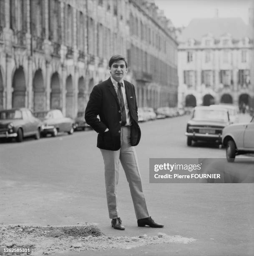
[[[225,108],[195,107],[186,127],[187,145],[198,140],[221,142],[222,130],[229,124]]]

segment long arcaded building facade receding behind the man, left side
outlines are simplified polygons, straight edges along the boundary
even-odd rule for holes
[[[127,56],[138,106],[177,104],[177,43],[149,1],[0,0],[0,109],[75,117],[113,54]],[[138,22],[136,22],[136,20]]]

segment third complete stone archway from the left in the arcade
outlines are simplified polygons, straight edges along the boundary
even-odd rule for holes
[[[50,109],[60,109],[61,107],[61,90],[60,90],[60,80],[59,75],[55,72],[51,77],[50,82]]]

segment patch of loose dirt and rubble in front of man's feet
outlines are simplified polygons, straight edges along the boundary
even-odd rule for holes
[[[168,236],[158,233],[157,236],[108,237],[93,225],[84,223],[70,227],[39,227],[0,224],[0,247],[30,248],[31,253],[9,253],[0,255],[43,255],[60,251],[96,251],[112,248],[129,249],[159,243],[192,243],[195,239],[181,236]]]

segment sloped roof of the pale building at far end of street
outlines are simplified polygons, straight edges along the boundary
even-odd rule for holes
[[[211,33],[215,39],[230,33],[233,39],[244,37],[254,38],[254,28],[246,25],[242,18],[200,18],[193,19],[179,36],[180,42],[189,38],[201,41],[201,38]]]

